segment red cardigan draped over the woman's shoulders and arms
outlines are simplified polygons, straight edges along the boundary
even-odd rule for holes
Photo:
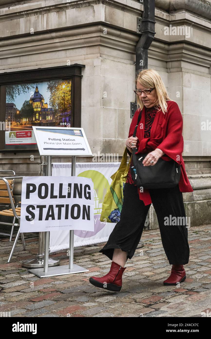
[[[134,129],[137,125],[140,109],[137,109],[131,121],[128,138],[133,136]],[[162,111],[156,113],[155,119],[151,126],[150,137],[144,138],[145,125],[145,106],[142,109],[141,120],[137,127],[136,136],[137,149],[135,154],[149,153],[156,148],[160,148],[165,154],[161,157],[166,161],[173,159],[181,165],[181,176],[179,181],[180,192],[193,192],[193,189],[188,180],[185,164],[182,157],[183,152],[183,119],[179,106],[176,102],[167,101],[167,112],[165,115]],[[139,198],[143,200],[145,205],[151,203],[151,198],[148,190],[140,192],[138,187]]]

